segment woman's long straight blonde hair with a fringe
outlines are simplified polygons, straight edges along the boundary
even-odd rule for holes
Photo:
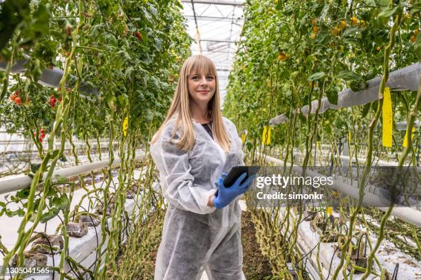
[[[160,138],[162,131],[171,118],[177,117],[175,128],[172,132],[171,139],[175,136],[175,132],[180,128],[180,141],[175,144],[177,148],[185,152],[191,151],[195,145],[195,131],[193,129],[193,121],[191,120],[190,111],[190,95],[188,94],[188,75],[190,73],[206,73],[215,76],[215,93],[208,102],[208,118],[212,122],[213,138],[221,147],[228,152],[230,150],[230,140],[224,128],[222,121],[221,108],[219,106],[219,83],[217,71],[212,60],[206,56],[191,56],[184,61],[180,69],[180,78],[178,80],[177,89],[175,89],[173,101],[166,113],[166,117],[158,132],[152,138],[151,143],[155,143]]]

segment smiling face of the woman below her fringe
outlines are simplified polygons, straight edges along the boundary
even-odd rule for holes
[[[195,73],[188,75],[188,93],[193,102],[207,105],[215,94],[215,76],[209,73]]]

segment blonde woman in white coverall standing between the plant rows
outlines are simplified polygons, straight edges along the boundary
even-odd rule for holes
[[[155,280],[200,279],[204,270],[209,279],[241,279],[237,198],[254,177],[240,184],[242,174],[230,187],[222,183],[244,161],[237,129],[222,117],[217,72],[209,58],[192,56],[182,65],[151,154],[168,202]]]

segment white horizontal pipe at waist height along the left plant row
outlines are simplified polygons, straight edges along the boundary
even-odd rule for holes
[[[136,153],[135,161],[139,161],[144,158],[144,152],[138,151]],[[114,159],[111,167],[119,166],[121,163],[120,158]],[[109,161],[98,161],[96,163],[87,163],[84,165],[76,165],[72,167],[62,168],[60,170],[55,170],[52,174],[52,178],[56,176],[63,176],[66,178],[76,176],[79,174],[84,174],[87,172],[100,170],[102,168],[107,168]],[[47,172],[44,173],[43,179],[47,175]],[[20,189],[25,189],[31,185],[32,178],[28,175],[12,175],[4,178],[0,178],[0,194],[6,194],[10,191],[19,191]]]

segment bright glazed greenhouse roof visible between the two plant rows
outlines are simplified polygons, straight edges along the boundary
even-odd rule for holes
[[[208,56],[217,67],[222,102],[244,20],[244,0],[181,0],[192,54]]]

